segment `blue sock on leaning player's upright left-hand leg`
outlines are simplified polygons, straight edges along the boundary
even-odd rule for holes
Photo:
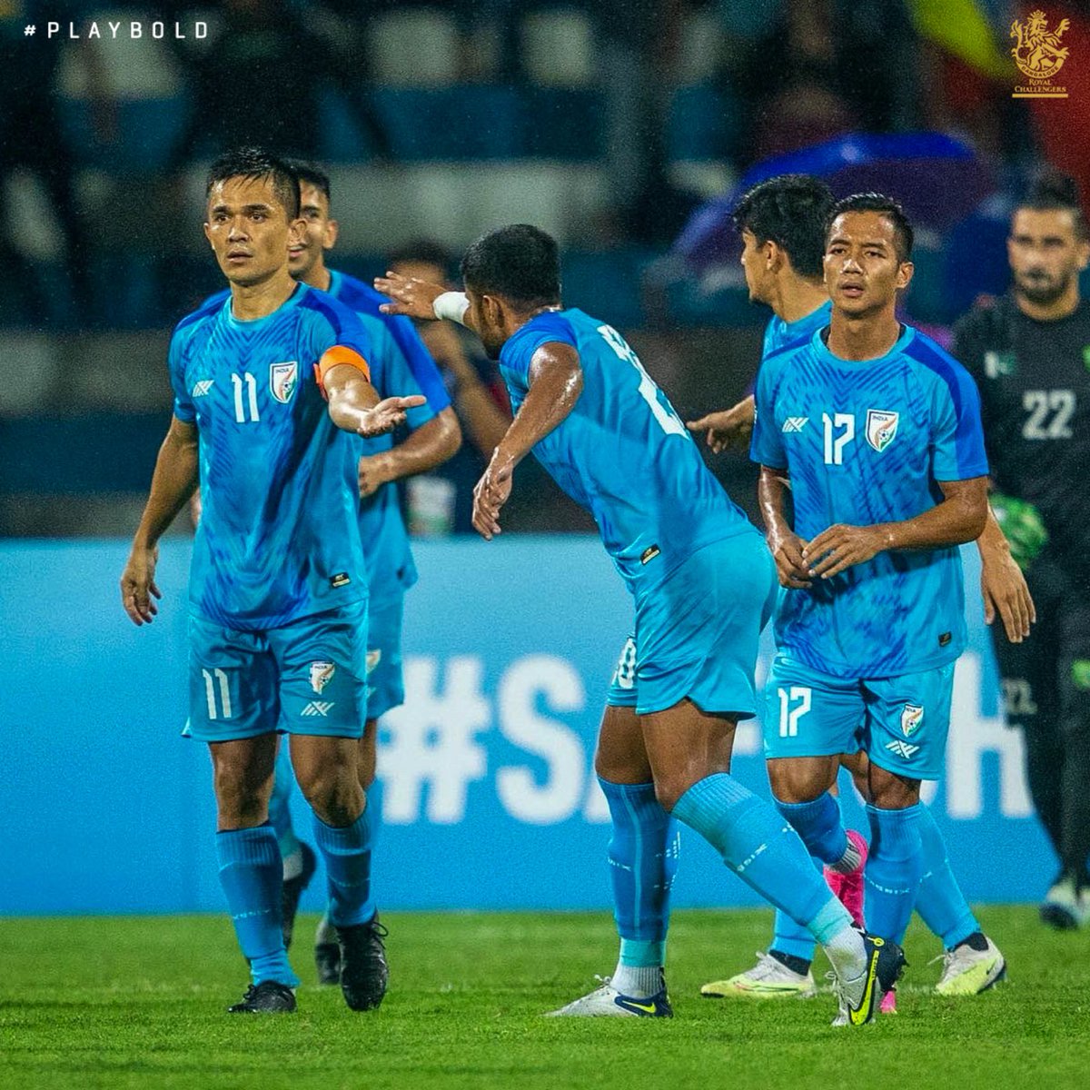
[[[654,784],[598,778],[609,804],[609,881],[620,958],[614,985],[627,995],[652,994],[666,961],[670,886],[678,867],[677,823],[655,798]],[[640,970],[654,970],[641,972]]]

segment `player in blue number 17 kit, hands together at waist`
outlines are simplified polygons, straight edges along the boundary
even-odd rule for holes
[[[829,324],[758,377],[752,457],[786,589],[764,747],[779,812],[815,859],[846,868],[857,848],[829,787],[858,737],[869,758],[867,925],[899,943],[930,870],[927,922],[949,950],[938,988],[966,994],[1005,966],[957,887],[920,783],[942,768],[966,642],[957,546],[988,523],[988,462],[971,377],[897,320],[911,246],[895,202],[840,201],[824,257]]]

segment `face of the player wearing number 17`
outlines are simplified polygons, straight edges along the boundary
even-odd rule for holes
[[[825,243],[825,287],[833,305],[863,317],[893,305],[908,287],[911,262],[897,259],[893,223],[880,211],[846,211]]]

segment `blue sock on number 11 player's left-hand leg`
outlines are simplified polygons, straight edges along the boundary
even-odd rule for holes
[[[227,894],[239,946],[250,961],[254,984],[275,980],[294,988],[283,948],[280,895],[282,870],[276,834],[268,823],[256,828],[232,828],[216,834],[219,881]]]

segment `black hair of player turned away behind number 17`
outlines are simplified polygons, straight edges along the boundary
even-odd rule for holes
[[[822,275],[832,207],[833,194],[820,178],[780,174],[743,193],[730,218],[739,233],[752,231],[758,242],[775,242],[799,276],[815,279]]]

